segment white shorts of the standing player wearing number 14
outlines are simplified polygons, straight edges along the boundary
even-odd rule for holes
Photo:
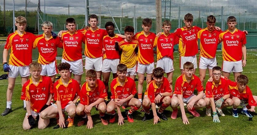
[[[102,66],[103,66],[103,57],[98,57],[98,58],[86,57],[86,60],[85,60],[86,70],[93,69],[95,71],[102,71]]]

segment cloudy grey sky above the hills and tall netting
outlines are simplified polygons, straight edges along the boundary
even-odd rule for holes
[[[44,0],[41,1],[41,11],[44,12]],[[162,0],[162,15],[164,16],[166,1],[166,16],[170,14],[170,0]],[[221,6],[224,6],[225,15],[257,14],[256,0],[171,0],[171,16],[178,17],[178,6],[181,6],[181,17],[185,13],[192,13],[194,16],[205,16],[213,14],[221,15]],[[38,0],[27,0],[27,10],[37,10]],[[253,4],[255,3],[255,4]],[[3,10],[3,0],[0,0]],[[85,0],[45,0],[46,13],[85,14]],[[106,7],[108,6],[108,7]],[[114,16],[154,17],[155,0],[89,0],[89,13],[110,15],[110,9]],[[98,8],[101,7],[101,8]],[[6,10],[13,9],[13,0],[6,0]],[[123,9],[123,10],[122,10]],[[15,0],[15,10],[25,10],[25,0]],[[199,13],[200,11],[200,13]],[[245,12],[246,11],[246,12]],[[167,17],[166,17],[167,18]]]

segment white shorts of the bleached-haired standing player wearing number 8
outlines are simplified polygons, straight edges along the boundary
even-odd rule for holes
[[[46,65],[41,64],[41,66],[42,71],[40,75],[53,76],[58,73],[56,61],[53,61],[52,63]]]

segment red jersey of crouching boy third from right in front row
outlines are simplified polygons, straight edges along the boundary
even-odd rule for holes
[[[196,75],[192,75],[191,81],[187,83],[185,75],[182,74],[176,80],[174,94],[183,95],[183,98],[188,98],[194,93],[195,89],[198,92],[203,91],[201,80]]]

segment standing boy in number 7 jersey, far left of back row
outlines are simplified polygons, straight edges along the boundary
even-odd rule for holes
[[[9,78],[6,91],[6,109],[1,114],[2,116],[12,112],[12,96],[17,76],[19,74],[21,76],[21,86],[28,81],[28,65],[32,62],[33,41],[36,36],[32,33],[25,32],[26,25],[27,20],[25,17],[19,16],[15,19],[17,30],[7,37],[5,48],[3,50],[3,69],[5,72],[9,72]],[[9,49],[11,49],[10,54],[8,52]],[[9,64],[7,64],[8,54]],[[25,109],[25,100],[23,103]]]

